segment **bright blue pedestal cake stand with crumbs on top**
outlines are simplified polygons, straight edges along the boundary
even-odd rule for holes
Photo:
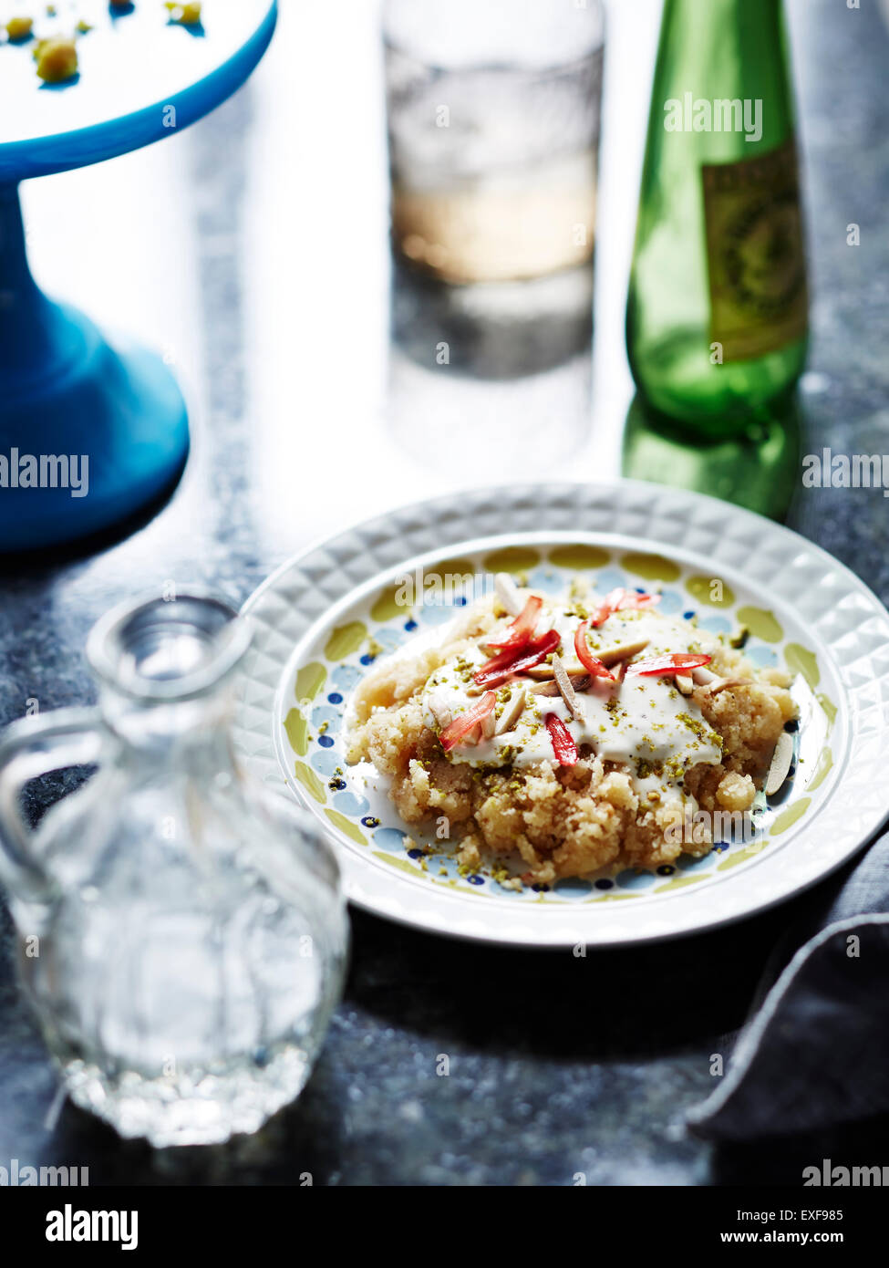
[[[175,483],[189,448],[185,402],[162,359],[109,342],[34,283],[19,181],[100,162],[194,123],[243,84],[276,18],[274,0],[204,0],[194,27],[171,23],[162,0],[55,8],[51,18],[44,4],[20,5],[36,15],[34,38],[71,34],[79,19],[91,24],[77,38],[76,79],[44,85],[33,39],[0,46],[4,553],[74,541],[137,514]]]

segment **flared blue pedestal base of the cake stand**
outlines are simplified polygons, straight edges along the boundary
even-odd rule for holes
[[[112,346],[33,281],[14,186],[0,186],[0,552],[75,541],[181,473],[183,394],[155,353]]]

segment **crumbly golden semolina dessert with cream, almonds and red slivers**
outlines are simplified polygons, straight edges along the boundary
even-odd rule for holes
[[[444,817],[460,866],[510,888],[708,853],[718,812],[784,782],[796,706],[788,675],[658,601],[559,601],[498,574],[439,647],[359,685],[349,762],[391,777],[406,823]]]

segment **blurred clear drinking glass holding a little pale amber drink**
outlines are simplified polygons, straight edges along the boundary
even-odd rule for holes
[[[448,281],[592,259],[599,0],[387,0],[392,233]]]

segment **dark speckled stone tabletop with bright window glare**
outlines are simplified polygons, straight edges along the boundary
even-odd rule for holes
[[[613,136],[628,127],[620,123],[620,103],[629,91],[625,72],[637,38],[633,23],[615,9],[605,113],[606,128],[610,117],[615,120]],[[794,0],[789,10],[814,275],[813,345],[800,398],[803,451],[829,445],[847,454],[883,453],[889,450],[886,30],[870,5],[848,10],[829,0]],[[656,18],[656,6],[652,11]],[[313,14],[304,20],[323,19]],[[364,58],[360,66],[356,61],[355,74],[367,76],[361,93],[373,93],[375,33],[369,24],[360,30],[358,52],[349,56]],[[155,230],[172,223],[180,231],[162,256],[152,257],[157,249],[147,230],[141,260],[131,259],[123,240],[118,243],[123,276],[142,269],[136,298],[115,294],[107,274],[105,280],[95,275],[90,295],[93,309],[101,313],[104,306],[119,313],[122,325],[132,313],[156,342],[170,341],[179,350],[191,393],[194,449],[169,503],[126,539],[103,543],[88,557],[57,553],[37,562],[5,562],[3,721],[20,716],[30,699],[41,710],[91,700],[81,656],[86,631],[134,590],[167,578],[180,586],[200,581],[241,601],[311,538],[412,500],[408,478],[421,476],[436,492],[460,479],[458,470],[432,472],[420,459],[396,455],[394,446],[386,448],[391,437],[374,430],[384,427],[374,402],[386,387],[378,363],[380,355],[386,360],[388,328],[379,119],[368,122],[368,112],[353,107],[368,129],[370,148],[361,147],[360,155],[364,133],[353,127],[339,96],[330,101],[326,124],[304,115],[289,123],[278,119],[276,103],[294,82],[288,58],[298,56],[302,34],[299,19],[285,15],[280,39],[255,81],[216,115],[157,147],[171,157],[142,156],[145,169],[134,156],[115,160],[119,167],[104,165],[89,174],[94,185],[88,174],[52,179],[68,181],[53,189],[68,194],[71,216],[76,221],[81,214],[84,223],[96,190],[127,197],[123,174],[133,175],[133,198],[148,188],[138,184],[147,180],[145,171],[169,181],[160,188],[178,191],[176,198],[161,198],[152,180],[153,194],[145,195]],[[653,25],[639,34],[647,56],[654,38]],[[318,72],[313,82],[317,89]],[[299,91],[306,89],[293,87]],[[646,107],[628,99],[628,112],[637,124],[642,119],[643,129]],[[294,129],[297,150],[308,146],[303,161],[313,152],[328,153],[330,138],[326,148],[316,142],[312,151],[298,131],[313,127],[323,136],[325,126],[337,145],[358,128],[355,170],[377,164],[374,184],[360,204],[367,216],[355,230],[358,245],[340,241],[339,254],[334,240],[320,237],[325,219],[331,221],[330,233],[340,236],[354,219],[355,207],[342,208],[354,181],[353,156],[336,155],[336,171],[320,171],[304,188],[293,185],[293,171],[270,172],[261,161],[263,137],[274,127]],[[633,143],[638,155],[640,136]],[[606,226],[633,218],[638,174],[616,148],[606,134],[600,251]],[[616,174],[613,181],[606,179],[610,171]],[[618,193],[606,194],[609,184]],[[43,195],[36,190],[28,197],[25,208],[39,228],[32,243],[38,275],[72,269],[55,245]],[[293,242],[290,210],[316,235],[303,256]],[[861,227],[859,247],[846,243],[852,222]],[[90,245],[98,251],[98,237],[86,232],[89,256]],[[309,259],[325,251],[326,271]],[[625,364],[618,364],[626,251],[624,236],[596,283],[591,436],[580,454],[557,465],[555,477],[618,473],[632,393]],[[159,292],[148,274],[161,268],[165,283]],[[88,304],[90,295],[81,285],[79,301]],[[295,333],[288,360],[282,331],[290,339],[290,328]],[[317,365],[328,384],[323,393]],[[331,374],[337,365],[340,373]],[[316,392],[308,399],[303,382]],[[370,404],[356,415],[361,401]],[[331,454],[331,440],[342,437]],[[328,465],[318,474],[322,453]],[[290,501],[274,496],[287,487],[284,474],[290,477]],[[503,477],[514,474],[520,473]],[[800,483],[789,522],[853,568],[885,601],[888,508],[879,489],[803,489]],[[71,776],[47,781],[33,809],[39,812],[70,784]],[[829,1140],[713,1154],[684,1134],[681,1120],[686,1107],[711,1090],[711,1058],[730,1051],[776,938],[812,902],[809,895],[668,947],[577,960],[457,945],[355,913],[345,998],[298,1104],[256,1137],[179,1153],[120,1142],[58,1103],[52,1066],[15,984],[10,922],[3,913],[0,1165],[13,1158],[22,1165],[86,1165],[91,1183],[298,1183],[307,1172],[316,1184],[571,1184],[578,1175],[604,1186],[752,1178],[794,1183],[800,1159],[831,1150],[833,1156],[852,1150],[857,1156],[875,1125]],[[436,1073],[443,1055],[449,1058],[446,1077]]]

